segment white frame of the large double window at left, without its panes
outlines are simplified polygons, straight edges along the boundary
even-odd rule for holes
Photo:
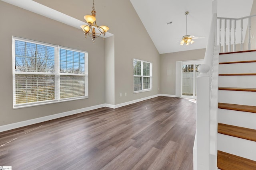
[[[50,47],[54,47],[54,72],[21,72],[15,70],[15,40],[18,41],[24,41],[28,43],[35,43],[38,45],[46,45]],[[60,73],[60,49],[66,49],[71,51],[76,51],[79,53],[84,53],[84,74],[72,74],[72,73]],[[54,100],[46,100],[42,102],[29,102],[24,104],[16,104],[16,74],[38,74],[38,75],[54,75]],[[73,98],[65,98],[60,99],[60,76],[61,75],[72,75],[72,76],[84,76],[84,96],[79,97],[73,97]],[[66,102],[66,101],[72,101],[72,100],[80,100],[80,99],[86,99],[88,98],[88,51],[81,51],[77,49],[71,49],[68,47],[62,47],[59,45],[53,45],[49,43],[43,43],[40,41],[34,41],[30,39],[24,39],[20,37],[14,37],[12,36],[12,86],[13,86],[13,108],[23,108],[23,107],[31,107],[31,106],[39,106],[44,104],[53,104],[58,102]]]

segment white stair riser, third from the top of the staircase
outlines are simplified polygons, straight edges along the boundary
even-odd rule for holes
[[[219,76],[219,87],[256,88],[256,76]]]

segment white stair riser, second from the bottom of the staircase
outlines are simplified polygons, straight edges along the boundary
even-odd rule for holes
[[[218,123],[256,129],[256,113],[218,109]]]

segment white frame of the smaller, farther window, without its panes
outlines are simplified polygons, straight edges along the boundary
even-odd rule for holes
[[[141,93],[141,92],[148,92],[148,91],[152,91],[152,89],[153,89],[153,86],[152,86],[152,80],[153,80],[153,78],[152,78],[152,70],[153,70],[153,68],[152,68],[152,63],[151,62],[149,62],[149,61],[143,61],[143,60],[140,60],[140,59],[133,59],[132,61],[132,65],[134,64],[134,60],[136,60],[136,61],[140,61],[141,62],[141,75],[140,76],[137,76],[137,75],[134,75],[133,74],[133,77],[142,77],[142,90],[138,90],[138,91],[134,91],[133,93],[135,94],[135,93]],[[143,64],[144,63],[149,63],[150,64],[150,75],[149,76],[144,76],[143,75]],[[133,72],[134,72],[134,70],[133,70]],[[144,77],[149,77],[150,78],[150,88],[148,88],[148,89],[144,89]],[[133,87],[134,87],[134,82],[133,82]]]

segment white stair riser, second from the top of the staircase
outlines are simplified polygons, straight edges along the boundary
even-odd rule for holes
[[[219,74],[256,73],[256,63],[220,64]]]

